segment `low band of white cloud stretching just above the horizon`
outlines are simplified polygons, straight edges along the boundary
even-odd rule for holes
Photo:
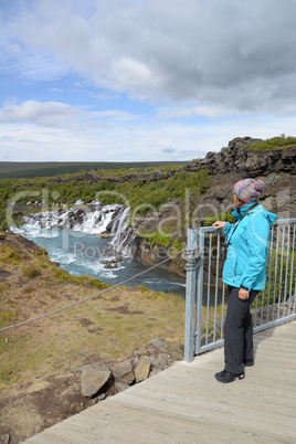
[[[249,117],[211,125],[130,121],[128,125],[93,126],[84,131],[32,124],[1,124],[0,159],[14,161],[152,161],[191,160],[228,146],[237,135],[263,139],[290,135],[296,118]],[[246,129],[247,128],[247,129]]]

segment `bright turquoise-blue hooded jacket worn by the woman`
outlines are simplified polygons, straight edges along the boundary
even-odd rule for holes
[[[226,243],[230,241],[230,244],[222,281],[237,288],[243,285],[249,292],[265,288],[271,228],[277,220],[277,215],[264,210],[263,205],[250,210],[242,220],[253,204],[236,209],[232,214],[237,221],[233,225],[228,222],[224,226]]]

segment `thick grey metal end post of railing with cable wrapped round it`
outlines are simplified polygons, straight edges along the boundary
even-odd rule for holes
[[[194,317],[195,317],[195,275],[197,275],[197,230],[188,230],[186,263],[186,326],[184,326],[184,361],[193,361],[194,355]]]

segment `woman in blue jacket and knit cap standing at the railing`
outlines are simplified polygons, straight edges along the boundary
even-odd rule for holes
[[[262,180],[244,179],[235,183],[233,199],[236,222],[216,221],[223,229],[226,258],[222,281],[229,286],[229,305],[224,324],[225,368],[215,373],[219,382],[244,378],[244,366],[254,364],[253,326],[250,307],[265,288],[271,226],[277,215],[258,204],[263,194]]]

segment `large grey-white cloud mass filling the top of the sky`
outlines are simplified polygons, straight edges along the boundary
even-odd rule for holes
[[[2,23],[27,76],[76,72],[133,98],[295,113],[296,2],[84,3],[33,0]]]

